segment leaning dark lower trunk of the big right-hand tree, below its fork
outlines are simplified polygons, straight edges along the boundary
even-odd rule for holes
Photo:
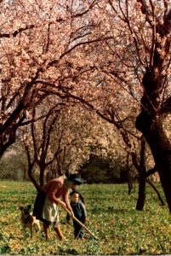
[[[136,120],[136,126],[143,132],[146,142],[151,148],[162,189],[171,212],[171,145],[162,128],[162,116],[154,120],[142,110]]]

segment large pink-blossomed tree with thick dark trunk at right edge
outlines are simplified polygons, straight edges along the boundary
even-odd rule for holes
[[[94,13],[103,17],[99,32],[108,40],[87,45],[94,69],[82,75],[91,84],[85,98],[100,99],[97,112],[118,104],[121,117],[123,106],[140,108],[135,125],[151,148],[171,212],[171,143],[163,129],[171,112],[171,1],[100,1]]]

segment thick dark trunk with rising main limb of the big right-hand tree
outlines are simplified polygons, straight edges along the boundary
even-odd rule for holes
[[[142,9],[145,15],[146,9]],[[171,98],[168,84],[169,76],[163,75],[163,71],[170,65],[170,33],[171,9],[163,20],[163,24],[157,24],[153,49],[151,48],[152,61],[146,66],[142,79],[144,95],[141,98],[141,112],[136,119],[136,127],[145,137],[151,148],[156,168],[161,179],[169,211],[171,212],[171,143],[163,131],[162,121],[171,111]],[[164,52],[164,57],[160,54]],[[166,98],[166,100],[164,100]]]

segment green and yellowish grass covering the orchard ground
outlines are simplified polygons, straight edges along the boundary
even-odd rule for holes
[[[162,189],[158,185],[158,189]],[[135,210],[137,189],[128,195],[127,184],[83,184],[79,190],[86,200],[86,226],[99,238],[86,232],[86,241],[76,241],[73,227],[65,224],[60,210],[61,242],[51,230],[51,240],[43,234],[24,238],[20,227],[20,205],[33,205],[37,195],[31,183],[0,181],[0,254],[80,254],[137,255],[170,254],[171,223],[168,207],[161,207],[154,191],[147,186],[145,210]],[[163,197],[163,195],[162,195]]]

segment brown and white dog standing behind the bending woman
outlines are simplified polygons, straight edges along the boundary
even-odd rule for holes
[[[32,213],[30,212],[31,205],[28,205],[27,207],[20,207],[21,212],[21,226],[23,229],[23,232],[26,236],[26,228],[30,229],[31,237],[33,233],[33,229],[35,229],[38,233],[41,230],[40,222],[38,219],[36,219],[34,216],[32,216]]]

